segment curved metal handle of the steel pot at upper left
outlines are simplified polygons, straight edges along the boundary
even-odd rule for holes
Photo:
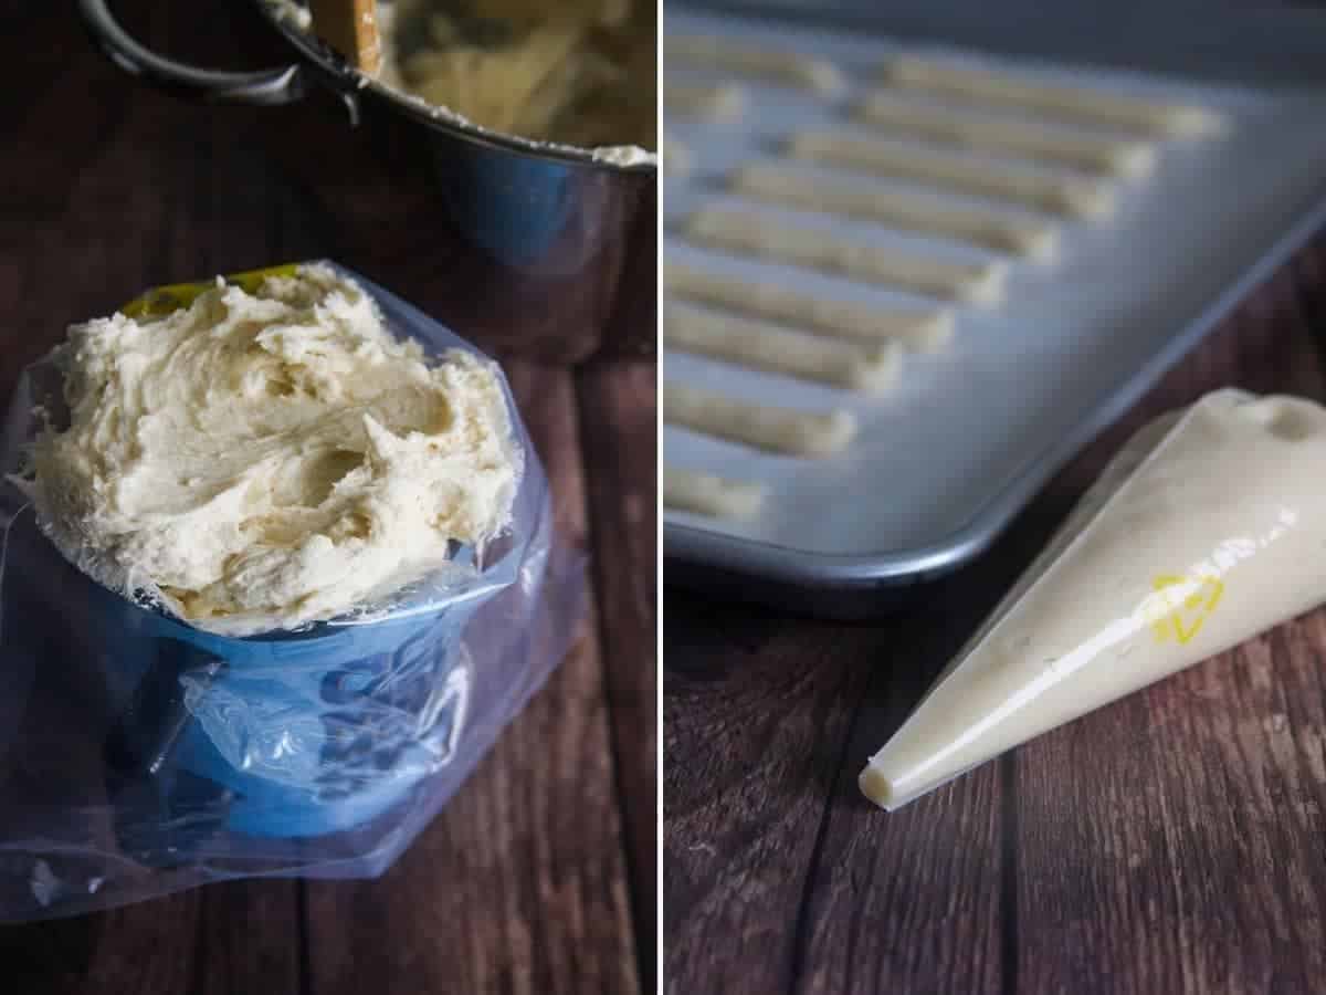
[[[228,73],[158,56],[119,27],[106,0],[78,0],[93,38],[121,69],[163,89],[225,103],[290,103],[305,93],[298,65]]]

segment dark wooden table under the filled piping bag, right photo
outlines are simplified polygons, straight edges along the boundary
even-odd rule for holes
[[[664,991],[1326,991],[1326,610],[895,813],[857,775],[1155,414],[1326,399],[1302,252],[969,569],[862,625],[664,596]]]

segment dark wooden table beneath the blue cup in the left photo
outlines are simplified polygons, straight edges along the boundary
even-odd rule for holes
[[[265,32],[233,4],[117,7],[176,54],[271,62]],[[5,5],[5,394],[68,322],[154,283],[329,256],[419,298],[394,265],[419,232],[390,187],[362,188],[365,162],[342,159],[335,107],[176,102],[95,53],[70,8]],[[271,151],[290,146],[314,168]],[[374,231],[373,214],[389,223]],[[3,927],[0,991],[654,990],[655,370],[507,369],[562,529],[593,555],[591,617],[548,686],[381,880],[213,885]]]

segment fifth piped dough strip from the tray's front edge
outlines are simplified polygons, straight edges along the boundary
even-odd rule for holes
[[[916,256],[751,211],[703,207],[686,220],[683,231],[697,245],[793,263],[937,297],[997,304],[1004,296],[1006,269],[1000,263],[956,263]]]

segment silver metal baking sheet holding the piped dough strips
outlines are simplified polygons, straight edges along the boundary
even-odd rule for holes
[[[1006,302],[993,309],[955,306],[955,337],[948,349],[908,357],[899,386],[882,398],[666,352],[668,378],[789,406],[847,407],[861,423],[847,454],[815,462],[756,452],[667,426],[664,455],[670,464],[769,487],[764,511],[749,521],[667,509],[670,555],[830,584],[960,563],[993,537],[1034,484],[1109,417],[1126,410],[1200,337],[1204,329],[1197,320],[1228,304],[1240,277],[1273,247],[1284,245],[1286,233],[1302,227],[1305,212],[1326,192],[1326,92],[1321,89],[1065,69],[916,42],[900,46],[883,33],[870,37],[859,31],[812,29],[678,7],[668,8],[666,25],[668,33],[716,34],[829,58],[851,80],[847,94],[825,101],[744,78],[740,82],[749,105],[739,123],[666,119],[668,135],[695,157],[688,175],[666,176],[670,224],[700,204],[757,203],[743,202],[719,186],[719,178],[735,166],[768,162],[806,175],[819,172],[819,167],[776,154],[777,139],[792,131],[815,127],[871,134],[851,122],[846,109],[878,86],[884,61],[900,48],[959,62],[1006,61],[1028,77],[1071,78],[1118,93],[1203,103],[1224,110],[1233,125],[1221,139],[1164,142],[1152,176],[1118,182],[1118,208],[1109,220],[1065,219],[1057,261],[1046,265],[1013,259]],[[717,78],[668,65],[666,42],[664,65],[670,82]],[[911,186],[837,175],[880,187]],[[980,200],[952,198],[964,199]],[[993,256],[873,224],[766,204],[760,210],[878,244],[923,247],[959,259]],[[671,235],[666,259],[703,264],[712,272],[773,279],[842,300],[934,304],[903,292],[695,248]],[[1111,414],[1111,409],[1118,410]]]

